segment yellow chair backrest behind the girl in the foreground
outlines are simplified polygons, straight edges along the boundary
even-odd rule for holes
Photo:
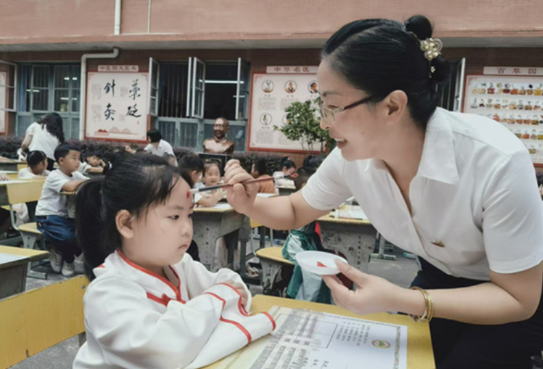
[[[85,342],[84,276],[0,300],[0,369],[79,335]]]

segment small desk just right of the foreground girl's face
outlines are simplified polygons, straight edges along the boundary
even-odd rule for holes
[[[233,263],[233,251],[238,248],[238,231],[243,225],[244,215],[233,208],[217,209],[197,207],[192,214],[194,236],[198,244],[200,261],[207,268],[214,264],[215,246],[219,237],[225,236],[228,263]]]

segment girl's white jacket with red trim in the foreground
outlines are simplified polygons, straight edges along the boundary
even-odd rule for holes
[[[212,273],[188,254],[164,272],[168,279],[120,252],[94,268],[84,297],[87,342],[74,369],[201,368],[275,328],[269,314],[250,316],[239,292],[219,284],[243,284],[236,272]]]

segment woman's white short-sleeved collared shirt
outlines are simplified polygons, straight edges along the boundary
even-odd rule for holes
[[[338,149],[302,193],[323,210],[353,194],[384,238],[455,277],[488,281],[489,268],[514,273],[543,259],[543,205],[529,153],[481,116],[438,109],[431,117],[409,187],[412,214],[381,160],[347,162]]]

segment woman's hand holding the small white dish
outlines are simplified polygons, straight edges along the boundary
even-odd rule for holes
[[[349,264],[336,264],[345,277],[356,283],[356,290],[349,290],[335,275],[323,275],[323,281],[330,288],[333,301],[339,307],[355,314],[373,314],[394,310],[395,298],[403,288],[386,279],[363,273]]]

